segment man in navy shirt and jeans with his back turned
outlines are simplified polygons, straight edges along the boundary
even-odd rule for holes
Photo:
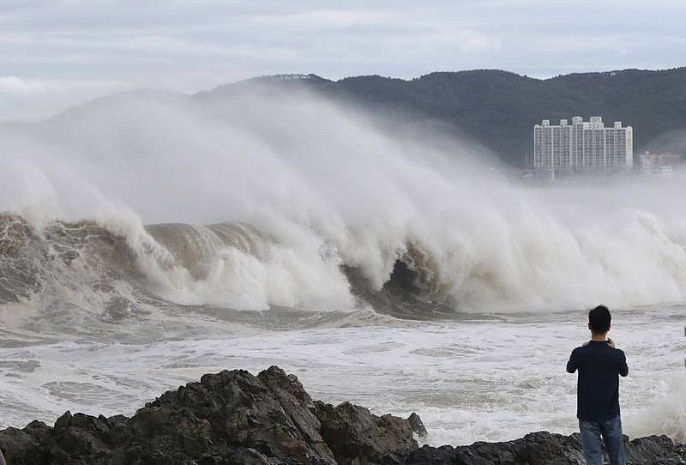
[[[622,419],[619,412],[619,375],[629,374],[624,352],[615,348],[610,311],[599,305],[588,313],[591,340],[572,351],[567,372],[579,370],[577,412],[586,465],[602,465],[601,435],[610,463],[625,465]]]

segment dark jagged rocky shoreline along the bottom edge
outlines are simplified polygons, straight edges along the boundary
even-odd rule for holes
[[[563,465],[583,464],[578,435],[537,432],[502,443],[419,447],[421,419],[373,415],[314,401],[293,375],[271,367],[204,375],[130,418],[81,413],[54,427],[33,421],[0,431],[9,465]],[[627,441],[629,464],[686,463],[666,436]]]

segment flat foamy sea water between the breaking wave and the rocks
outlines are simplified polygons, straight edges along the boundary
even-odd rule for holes
[[[269,319],[269,312],[262,317]],[[617,309],[613,317],[611,336],[630,367],[620,382],[626,433],[684,441],[684,307]],[[306,325],[302,315],[292,319],[293,326]],[[432,445],[502,441],[539,430],[569,434],[577,429],[576,374],[566,373],[565,364],[588,339],[585,322],[579,310],[444,322],[360,312],[315,328],[231,325],[232,334],[191,332],[164,341],[5,339],[0,424],[51,423],[66,410],[131,415],[204,373],[256,374],[279,365],[315,399],[350,401],[377,414],[417,412]]]

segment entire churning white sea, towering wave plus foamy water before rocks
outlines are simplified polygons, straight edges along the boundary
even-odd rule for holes
[[[0,425],[278,364],[432,444],[575,429],[614,310],[631,435],[686,440],[686,188],[513,187],[312,95],[105,99],[0,129]]]

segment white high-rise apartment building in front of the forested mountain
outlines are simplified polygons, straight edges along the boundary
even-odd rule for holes
[[[604,171],[631,169],[634,141],[631,126],[620,121],[605,127],[600,116],[581,116],[551,126],[544,119],[534,126],[534,169],[544,171]]]

